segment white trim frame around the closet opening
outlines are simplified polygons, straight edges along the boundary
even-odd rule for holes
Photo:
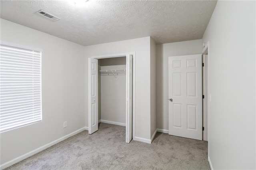
[[[127,53],[116,53],[116,54],[107,54],[107,55],[95,55],[91,56],[90,58],[93,59],[106,59],[106,58],[114,58],[114,57],[126,57],[126,55],[132,55],[132,137],[134,138],[135,136],[135,76],[136,76],[136,71],[135,71],[135,52],[127,52]],[[89,74],[89,73],[88,73]],[[88,77],[88,84],[90,84],[90,76]],[[88,87],[88,91],[89,91]],[[90,96],[88,95],[88,103],[90,102]],[[88,125],[89,125],[89,106],[88,106]],[[126,118],[127,119],[127,118]],[[127,125],[126,125],[127,126]],[[88,131],[89,131],[89,126],[88,126]]]

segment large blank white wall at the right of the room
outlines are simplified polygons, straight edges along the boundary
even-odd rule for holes
[[[255,169],[255,1],[218,1],[210,41],[209,160],[213,169]]]

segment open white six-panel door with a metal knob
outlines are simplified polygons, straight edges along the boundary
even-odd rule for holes
[[[202,55],[169,57],[169,134],[202,140]]]

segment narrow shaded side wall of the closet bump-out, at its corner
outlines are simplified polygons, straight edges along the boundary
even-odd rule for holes
[[[156,132],[156,43],[150,38],[150,136]]]

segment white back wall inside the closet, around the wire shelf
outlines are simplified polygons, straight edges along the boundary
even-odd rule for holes
[[[126,126],[125,71],[100,72],[100,70],[125,70],[126,57],[99,59],[98,66],[99,122]]]

